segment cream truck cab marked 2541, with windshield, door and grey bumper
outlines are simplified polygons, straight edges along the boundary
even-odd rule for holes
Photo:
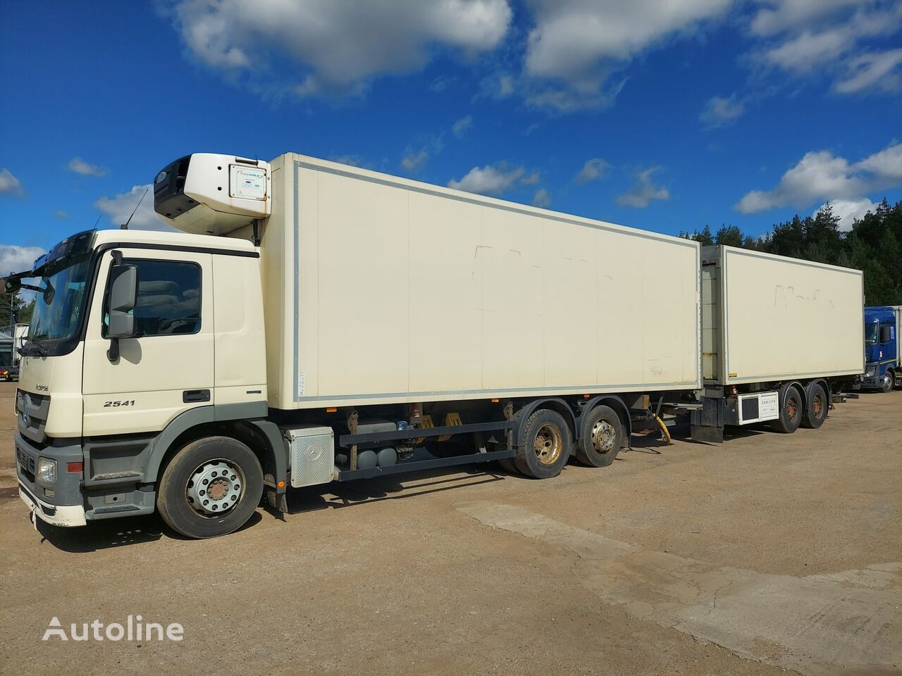
[[[238,434],[265,437],[253,425],[267,388],[252,242],[78,233],[7,279],[16,286],[36,293],[15,397],[19,490],[32,515],[84,525],[149,514],[161,464],[192,434],[240,420]]]

